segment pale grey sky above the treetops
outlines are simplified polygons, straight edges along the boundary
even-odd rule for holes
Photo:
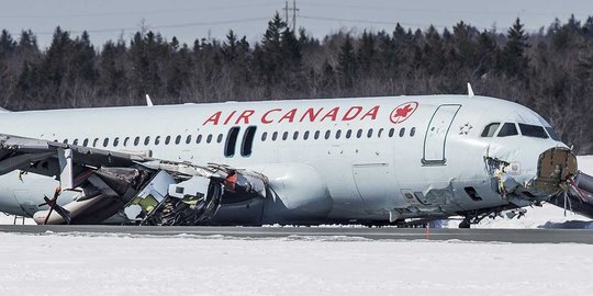
[[[224,38],[230,29],[259,41],[267,21],[276,11],[284,15],[284,0],[19,0],[2,1],[0,27],[18,37],[31,29],[38,44],[48,46],[57,25],[74,35],[89,31],[94,45],[122,36],[128,41],[141,23],[165,37],[181,43],[195,38]],[[292,7],[292,0],[289,0]],[[338,30],[392,31],[400,22],[405,27],[451,27],[459,21],[481,30],[495,26],[504,32],[518,16],[528,31],[548,26],[556,18],[562,22],[573,13],[583,22],[593,14],[593,0],[296,0],[298,26],[315,37]]]

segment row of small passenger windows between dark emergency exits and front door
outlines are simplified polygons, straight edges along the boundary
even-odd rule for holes
[[[379,128],[379,129],[377,129],[377,134],[374,134],[374,132],[376,130],[373,128],[369,128],[369,129],[366,129],[366,130],[362,129],[362,128],[360,128],[358,130],[347,129],[345,132],[342,130],[342,129],[337,129],[337,130],[335,130],[334,135],[332,136],[333,130],[331,130],[331,129],[327,129],[325,132],[322,132],[322,130],[315,130],[315,132],[305,130],[302,134],[302,139],[303,140],[307,140],[310,138],[320,139],[322,137],[322,133],[323,133],[323,138],[325,138],[325,139],[329,139],[329,138],[339,139],[343,136],[344,136],[344,138],[347,138],[347,139],[354,138],[354,137],[356,137],[356,138],[362,138],[362,137],[372,138],[373,135],[377,135],[378,138],[381,138],[385,133],[387,133],[387,136],[392,138],[395,135],[395,128],[390,128],[388,132],[385,132],[384,128]],[[416,128],[412,127],[410,129],[410,137],[413,137],[415,134],[416,134]],[[281,135],[282,135],[282,140],[289,139],[289,136],[293,140],[298,140],[299,136],[301,134],[300,134],[300,132],[293,132],[292,135],[290,135],[289,132],[284,132]],[[400,128],[399,135],[400,135],[400,137],[405,136],[405,127]],[[270,138],[270,140],[277,140],[279,138],[279,136],[280,136],[279,132],[273,132],[273,133],[271,133],[269,138]],[[267,139],[268,139],[268,133],[264,132],[261,134],[261,141],[266,141]]]

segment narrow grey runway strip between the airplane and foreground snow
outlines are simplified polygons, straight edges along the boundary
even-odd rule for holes
[[[31,226],[0,225],[0,232],[13,234],[123,234],[133,236],[224,236],[236,238],[351,237],[372,240],[460,240],[513,243],[589,243],[589,229],[451,229],[363,228],[363,227],[152,227],[152,226]]]

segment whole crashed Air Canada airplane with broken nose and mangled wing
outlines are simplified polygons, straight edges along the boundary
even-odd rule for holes
[[[545,202],[592,178],[513,102],[424,95],[1,112],[0,212],[38,224],[400,225]]]

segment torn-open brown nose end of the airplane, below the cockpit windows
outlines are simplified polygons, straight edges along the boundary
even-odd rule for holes
[[[567,148],[551,148],[539,155],[535,190],[553,194],[560,185],[577,173],[577,157]]]

